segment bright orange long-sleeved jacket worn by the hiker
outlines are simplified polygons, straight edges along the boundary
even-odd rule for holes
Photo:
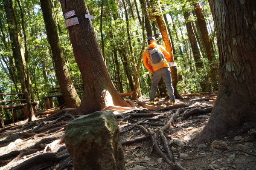
[[[162,45],[157,45],[156,43],[152,43],[152,44],[148,45],[148,49],[153,49],[153,48],[155,48],[155,46],[158,46],[158,49],[159,49],[160,51],[162,51],[162,53],[163,53],[163,55],[164,55],[164,57],[165,57],[166,59],[169,59],[169,58],[170,58],[169,52],[166,51],[166,49],[165,49]],[[153,68],[153,67],[151,66],[150,62],[149,62],[148,51],[144,51],[144,53],[143,53],[143,64],[145,65],[145,68],[147,68],[148,71],[150,71],[151,73],[153,73],[154,71],[157,71],[157,70],[160,69],[160,68],[169,67],[168,62],[165,61],[162,66],[160,66],[160,67],[158,67],[158,68]]]

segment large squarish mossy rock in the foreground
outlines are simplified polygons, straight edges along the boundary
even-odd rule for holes
[[[68,123],[65,143],[75,170],[125,170],[119,127],[112,111],[98,111]]]

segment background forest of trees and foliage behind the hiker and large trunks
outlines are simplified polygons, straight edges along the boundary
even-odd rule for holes
[[[26,82],[31,87],[31,100],[39,101],[38,109],[45,110],[44,96],[51,95],[49,92],[59,87],[60,83],[56,78],[58,68],[55,68],[48,40],[52,37],[47,37],[39,1],[13,0],[12,3],[22,47],[20,51],[23,53]],[[154,36],[164,45],[155,17],[156,12],[159,12],[154,10],[157,5],[162,8],[172,42],[173,56],[178,65],[178,93],[217,91],[218,47],[208,1],[160,0],[157,5],[148,0],[86,0],[86,3],[90,14],[95,16],[94,31],[110,77],[119,93],[133,91],[135,78],[132,55],[137,64],[143,44],[147,46],[143,40]],[[57,0],[52,0],[51,7],[70,77],[73,84],[81,84],[81,74],[67,28],[64,26],[61,5]],[[125,14],[126,10],[128,16]],[[0,0],[0,11],[0,93],[20,93],[23,91],[12,52],[3,0]],[[142,17],[145,21],[144,39]],[[127,19],[129,33],[126,28]],[[146,98],[151,87],[151,73],[143,65],[140,65],[139,82],[141,93]],[[79,95],[82,99],[82,95]],[[159,84],[157,96],[166,96],[163,81]],[[13,100],[15,97],[17,96],[1,96],[1,100]],[[23,96],[19,97],[24,99]],[[12,102],[12,105],[17,103]],[[58,105],[57,99],[54,103]],[[0,103],[8,104],[10,103]],[[4,120],[10,119],[12,110],[1,111],[1,115]]]

